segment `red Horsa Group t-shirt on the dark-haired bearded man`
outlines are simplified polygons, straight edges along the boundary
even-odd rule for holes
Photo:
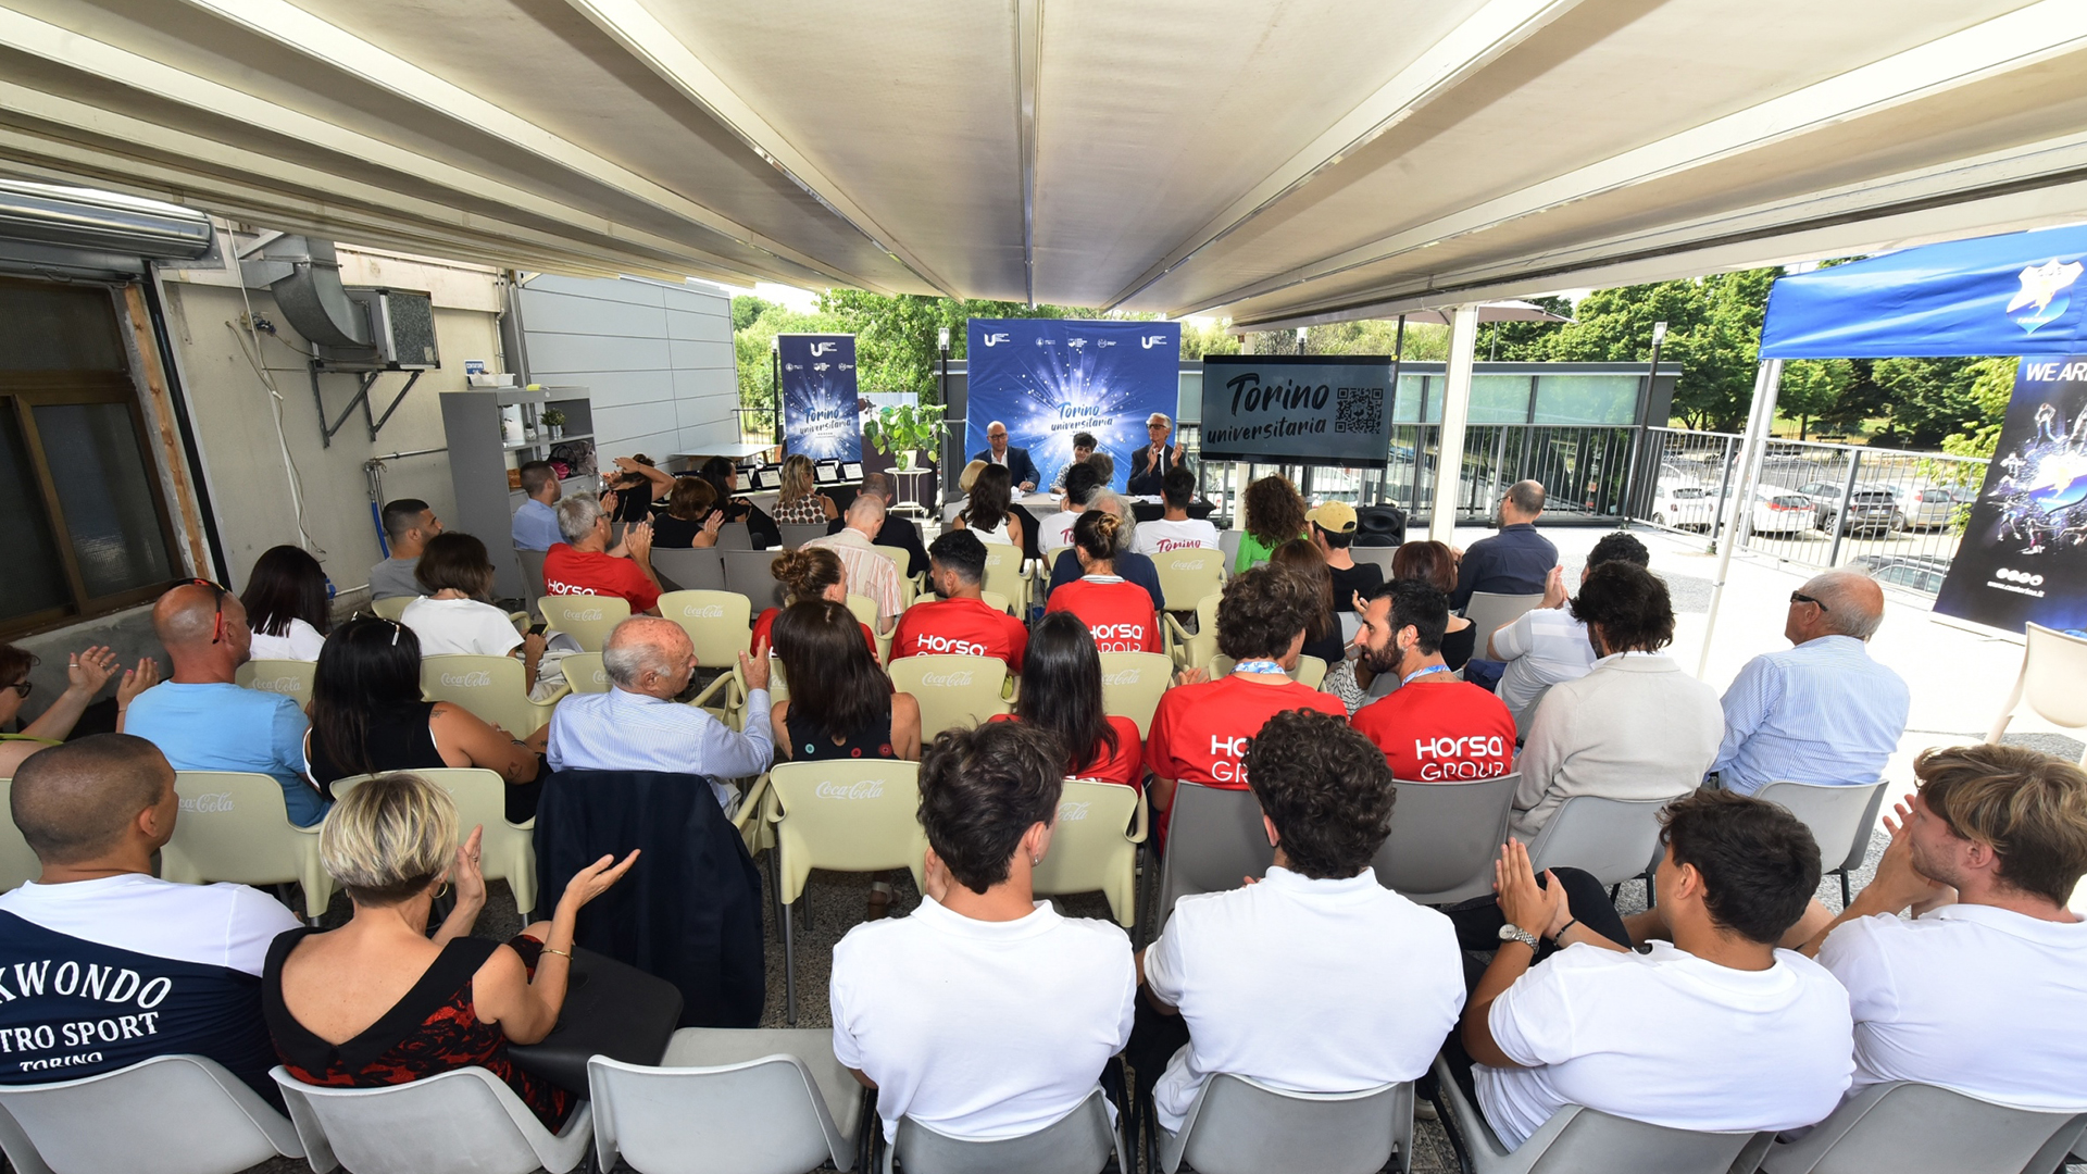
[[[1413,681],[1357,710],[1354,729],[1402,783],[1492,779],[1515,769],[1515,714],[1465,681]]]

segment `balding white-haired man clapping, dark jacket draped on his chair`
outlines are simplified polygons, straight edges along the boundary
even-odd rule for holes
[[[745,733],[674,700],[697,668],[695,645],[674,620],[630,616],[616,625],[601,645],[601,668],[607,694],[572,694],[551,714],[545,758],[553,771],[710,775],[718,806],[730,815],[739,792],[724,779],[751,779],[774,760],[766,641],[751,656],[739,654],[747,679]]]

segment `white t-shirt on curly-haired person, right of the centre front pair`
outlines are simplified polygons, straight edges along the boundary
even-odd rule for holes
[[[1448,917],[1373,869],[1309,879],[1269,867],[1261,884],[1183,896],[1146,950],[1146,984],[1188,1019],[1190,1042],[1152,1090],[1177,1132],[1213,1072],[1292,1093],[1419,1078],[1463,1011],[1463,955]]]

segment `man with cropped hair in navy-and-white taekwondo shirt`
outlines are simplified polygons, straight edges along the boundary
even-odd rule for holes
[[[167,758],[127,733],[67,742],[21,765],[8,804],[44,871],[0,896],[0,1084],[186,1053],[282,1107],[261,967],[296,917],[242,884],[152,877],[182,806]]]

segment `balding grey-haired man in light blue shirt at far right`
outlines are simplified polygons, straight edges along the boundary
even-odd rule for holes
[[[1870,660],[1885,591],[1868,574],[1828,570],[1791,591],[1784,652],[1747,662],[1724,691],[1724,744],[1711,773],[1753,794],[1776,779],[1866,785],[1899,748],[1912,694]]]

